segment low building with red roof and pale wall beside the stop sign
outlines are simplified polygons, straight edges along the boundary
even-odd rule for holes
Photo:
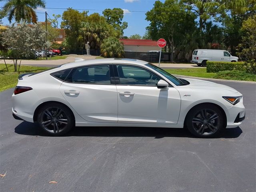
[[[120,39],[124,43],[124,51],[148,52],[159,51],[156,41],[148,39]]]

